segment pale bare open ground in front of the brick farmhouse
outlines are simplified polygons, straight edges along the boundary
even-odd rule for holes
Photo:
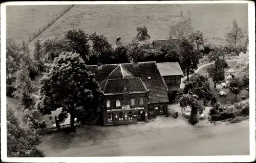
[[[157,117],[144,124],[53,133],[41,140],[38,148],[48,157],[248,155],[249,121],[213,125],[206,120],[191,126],[183,119]]]

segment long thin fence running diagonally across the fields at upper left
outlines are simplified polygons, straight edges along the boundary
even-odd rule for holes
[[[51,26],[56,20],[58,20],[61,16],[63,16],[64,14],[66,14],[72,7],[74,7],[75,5],[69,5],[68,7],[66,7],[64,10],[60,11],[59,14],[55,15],[55,17],[52,17],[52,20],[47,21],[47,24],[43,25],[42,28],[39,28],[37,32],[33,33],[33,36],[30,37],[29,36],[29,42],[27,44],[29,44],[30,42],[32,42],[37,36],[39,36],[42,32],[44,32],[47,28],[49,28],[49,26]]]

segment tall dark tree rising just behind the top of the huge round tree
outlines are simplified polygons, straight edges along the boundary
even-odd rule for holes
[[[90,55],[89,36],[80,29],[70,30],[66,33],[65,39],[69,42],[72,52],[78,53],[80,57],[87,63]]]

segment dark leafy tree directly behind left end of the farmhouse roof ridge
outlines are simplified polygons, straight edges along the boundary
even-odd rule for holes
[[[97,35],[96,33],[91,34],[89,38],[93,42],[92,53],[94,56],[98,58],[98,62],[102,64],[109,64],[113,62],[114,50],[112,48],[112,45],[108,42],[108,40],[106,40],[106,38],[103,35]]]

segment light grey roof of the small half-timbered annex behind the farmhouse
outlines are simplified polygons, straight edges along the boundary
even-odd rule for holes
[[[157,63],[157,68],[162,76],[184,75],[178,62]]]

